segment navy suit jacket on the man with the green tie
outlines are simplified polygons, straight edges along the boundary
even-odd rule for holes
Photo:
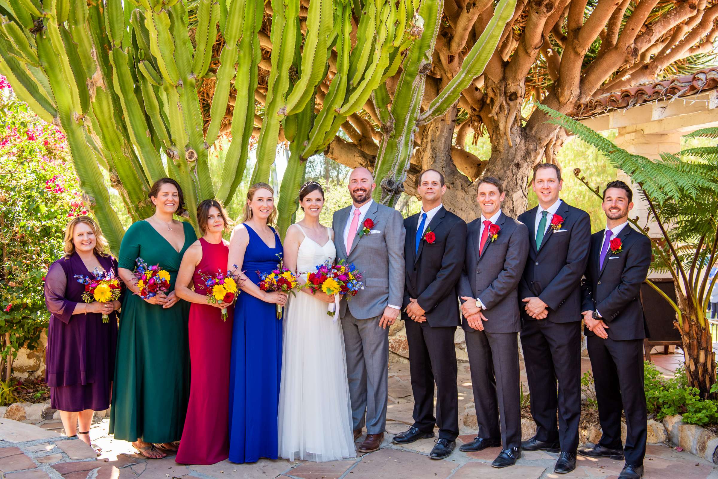
[[[591,245],[591,218],[588,213],[561,201],[557,215],[564,218],[559,231],[549,227],[536,249],[533,230],[536,225],[536,208],[518,217],[528,227],[528,261],[518,285],[518,301],[524,321],[535,321],[526,314],[521,299],[538,297],[549,307],[544,321],[572,322],[581,317],[581,277],[588,263]]]

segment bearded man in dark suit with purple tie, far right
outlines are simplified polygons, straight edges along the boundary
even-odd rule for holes
[[[584,334],[598,399],[603,434],[595,447],[579,450],[589,457],[623,459],[619,479],[643,475],[646,424],[643,391],[645,321],[638,299],[651,265],[651,240],[628,225],[633,192],[622,181],[603,191],[606,229],[591,236],[591,254],[582,282]],[[621,409],[625,411],[625,447],[621,445]]]

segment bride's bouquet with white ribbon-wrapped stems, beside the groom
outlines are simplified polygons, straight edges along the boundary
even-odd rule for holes
[[[363,288],[363,276],[356,270],[353,263],[345,264],[341,259],[337,264],[327,261],[317,266],[317,271],[307,274],[307,284],[312,293],[325,292],[334,296],[334,302],[327,307],[327,315],[334,316],[339,308],[341,296],[351,299]],[[336,318],[335,318],[336,321]]]

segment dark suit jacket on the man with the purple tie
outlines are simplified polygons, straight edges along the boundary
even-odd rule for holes
[[[605,230],[591,236],[591,259],[582,281],[582,311],[598,310],[608,325],[612,340],[643,339],[646,336],[640,285],[651,266],[651,240],[643,233],[625,225],[618,233],[619,253],[610,249],[601,268],[599,259]],[[593,335],[588,329],[587,336]]]

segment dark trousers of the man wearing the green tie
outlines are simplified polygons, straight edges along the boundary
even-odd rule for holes
[[[521,347],[536,439],[559,440],[561,452],[575,454],[581,417],[581,322],[524,320]]]

